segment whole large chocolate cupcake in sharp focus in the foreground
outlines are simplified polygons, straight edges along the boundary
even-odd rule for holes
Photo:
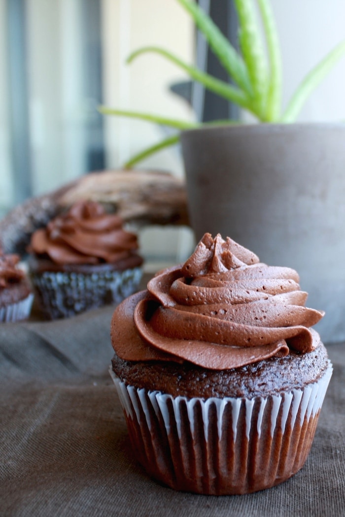
[[[306,461],[332,365],[296,271],[205,234],[112,318],[134,455],[175,490],[245,494]]]

